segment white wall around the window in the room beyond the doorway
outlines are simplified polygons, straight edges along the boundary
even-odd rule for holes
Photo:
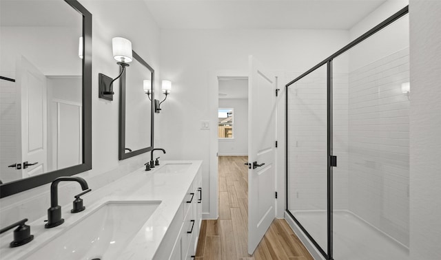
[[[234,138],[219,139],[219,155],[248,155],[248,100],[219,98],[219,108],[234,109]]]

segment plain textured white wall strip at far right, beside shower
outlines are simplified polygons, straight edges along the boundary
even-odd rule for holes
[[[441,259],[441,1],[411,0],[410,252]]]

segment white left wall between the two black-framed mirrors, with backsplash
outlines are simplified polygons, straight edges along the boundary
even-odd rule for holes
[[[92,191],[150,160],[150,154],[118,160],[119,87],[114,86],[114,101],[98,98],[98,74],[117,76],[119,67],[112,57],[112,37],[123,36],[132,41],[133,49],[159,74],[159,29],[143,1],[81,0],[92,13],[92,170],[80,173]],[[130,14],[116,19],[121,14]],[[2,46],[3,47],[3,46]],[[157,75],[158,75],[157,74]],[[155,85],[158,86],[158,80]],[[158,88],[157,88],[158,89]],[[30,221],[46,215],[50,206],[49,184],[0,199],[0,226],[17,219]],[[79,193],[78,184],[59,186],[59,204],[72,204]],[[87,202],[86,202],[87,203]],[[86,205],[87,206],[87,205]]]

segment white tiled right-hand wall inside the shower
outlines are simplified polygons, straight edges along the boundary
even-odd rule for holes
[[[349,73],[349,210],[409,246],[409,48]]]

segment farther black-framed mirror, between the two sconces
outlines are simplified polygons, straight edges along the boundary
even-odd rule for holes
[[[154,69],[134,51],[133,58],[119,81],[119,160],[153,148]]]

